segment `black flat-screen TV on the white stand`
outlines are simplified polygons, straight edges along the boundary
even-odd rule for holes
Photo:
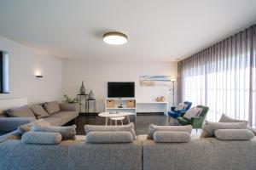
[[[134,98],[134,82],[108,82],[108,98]]]

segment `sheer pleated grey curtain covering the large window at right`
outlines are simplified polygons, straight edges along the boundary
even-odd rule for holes
[[[256,123],[256,25],[178,62],[180,101]]]

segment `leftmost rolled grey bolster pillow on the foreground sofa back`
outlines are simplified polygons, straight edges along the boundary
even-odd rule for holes
[[[61,139],[61,133],[27,132],[21,136],[26,144],[60,144]]]

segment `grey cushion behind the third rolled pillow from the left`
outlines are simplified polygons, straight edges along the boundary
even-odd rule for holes
[[[157,126],[154,124],[150,124],[148,131],[148,139],[153,139],[153,135],[157,131],[186,132],[190,134],[192,131],[192,126]]]

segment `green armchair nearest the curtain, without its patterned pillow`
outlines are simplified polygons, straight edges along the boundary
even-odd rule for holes
[[[185,114],[183,113],[180,117],[177,117],[178,123],[183,126],[191,125],[193,128],[196,128],[196,129],[201,128],[206,119],[207,112],[209,111],[209,107],[204,105],[197,105],[196,107],[203,109],[201,112],[201,116],[195,116],[189,120],[183,117],[183,115]]]

